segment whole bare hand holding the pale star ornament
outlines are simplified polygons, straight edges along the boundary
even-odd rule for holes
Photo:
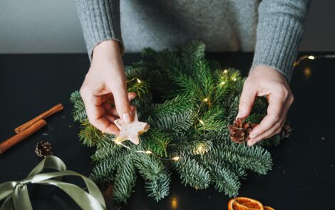
[[[134,107],[130,107],[130,100],[135,96],[135,93],[127,93],[118,42],[99,43],[93,50],[91,68],[81,86],[89,122],[102,132],[118,135],[114,120],[133,121]]]

